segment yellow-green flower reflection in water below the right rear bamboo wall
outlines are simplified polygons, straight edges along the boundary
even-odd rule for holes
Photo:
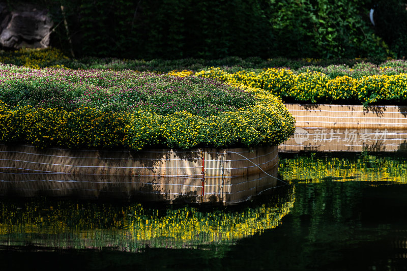
[[[280,155],[279,174],[290,183],[345,182],[407,183],[405,155],[310,153]]]

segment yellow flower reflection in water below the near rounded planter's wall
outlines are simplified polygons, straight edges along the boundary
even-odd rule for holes
[[[88,240],[91,243],[86,246],[114,245],[129,251],[143,244],[185,247],[230,243],[280,225],[281,219],[293,208],[294,191],[294,188],[290,189],[289,194],[279,198],[278,202],[234,212],[215,209],[201,213],[196,208],[183,207],[168,208],[162,213],[162,210],[146,210],[141,204],[120,209],[106,206],[103,209],[103,220],[98,217],[98,208],[89,204],[67,206],[65,203],[46,208],[41,204],[42,207],[38,208],[38,203],[31,202],[18,212],[15,206],[2,204],[0,239],[9,233],[13,233],[16,238],[19,235],[25,237],[24,234],[46,234],[50,237],[51,246],[54,246],[56,240],[63,243],[64,234],[70,234],[70,242],[76,241],[77,247],[82,247],[83,242]],[[100,239],[110,244],[98,244],[100,239],[93,237],[100,233],[104,235]],[[61,240],[55,240],[55,235],[62,237]]]

